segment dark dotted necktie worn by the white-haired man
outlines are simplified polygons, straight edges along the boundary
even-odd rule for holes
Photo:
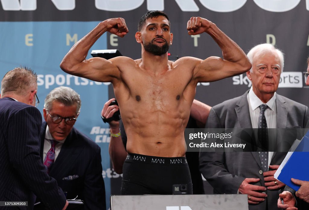
[[[268,171],[268,131],[267,131],[267,123],[265,118],[265,110],[267,109],[266,104],[260,105],[260,116],[258,123],[258,139],[261,143],[262,152],[259,152],[259,157],[262,165],[263,171]],[[266,152],[264,152],[266,150]]]

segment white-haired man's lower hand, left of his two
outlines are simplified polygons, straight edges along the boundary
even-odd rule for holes
[[[266,188],[262,186],[257,186],[249,183],[255,183],[260,181],[260,179],[256,178],[246,178],[239,186],[239,193],[248,195],[248,203],[249,204],[258,204],[263,202],[267,197],[266,194],[257,192],[257,191],[265,191]]]

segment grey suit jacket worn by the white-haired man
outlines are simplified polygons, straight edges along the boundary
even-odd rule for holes
[[[248,91],[212,107],[206,128],[251,128]],[[308,107],[276,94],[277,128],[304,128],[309,120]],[[279,133],[278,135],[282,135]],[[280,165],[285,152],[274,152],[270,165]],[[214,187],[214,193],[236,194],[245,178],[259,178],[256,185],[265,186],[257,152],[202,152],[200,170]],[[253,183],[252,183],[253,184]],[[277,209],[278,190],[267,190],[269,210]],[[264,210],[266,200],[249,204],[249,210]]]

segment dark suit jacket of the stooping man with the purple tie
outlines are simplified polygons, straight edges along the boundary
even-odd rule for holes
[[[41,127],[41,158],[43,158],[46,126],[44,122]],[[84,201],[84,205],[78,206],[78,209],[106,209],[101,149],[74,127],[50,168],[49,175],[57,180],[63,191],[67,192],[67,199],[78,196],[77,199]],[[78,175],[78,178],[63,180],[70,175]]]

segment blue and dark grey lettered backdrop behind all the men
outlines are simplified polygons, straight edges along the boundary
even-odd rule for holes
[[[309,104],[303,72],[309,54],[309,0],[0,0],[0,77],[19,65],[39,74],[38,96],[43,101],[57,86],[70,86],[82,98],[76,128],[102,148],[106,198],[119,192],[121,176],[111,168],[109,129],[100,111],[113,96],[109,83],[92,82],[68,75],[59,64],[66,52],[100,21],[125,19],[129,34],[124,38],[104,34],[91,48],[118,49],[122,55],[138,59],[141,47],[135,41],[140,17],[147,10],[163,10],[174,33],[171,55],[205,59],[222,57],[218,45],[208,34],[189,36],[188,19],[209,19],[247,53],[256,44],[276,45],[285,54],[284,72],[278,93],[299,103]],[[88,57],[91,55],[88,53]],[[251,87],[245,74],[211,83],[199,83],[196,99],[214,106],[243,94]],[[38,107],[43,110],[43,103]],[[114,185],[116,183],[116,185]],[[112,184],[112,188],[111,188]],[[115,187],[114,187],[115,186]],[[107,204],[109,205],[109,204]]]

